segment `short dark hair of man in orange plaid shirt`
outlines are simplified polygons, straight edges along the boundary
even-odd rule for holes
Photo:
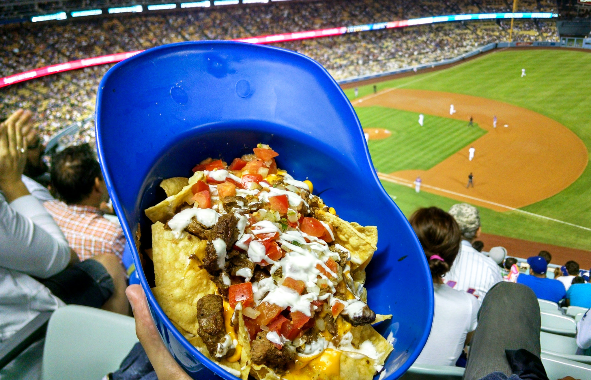
[[[51,159],[51,184],[67,204],[86,198],[97,177],[100,165],[89,144],[69,146]]]

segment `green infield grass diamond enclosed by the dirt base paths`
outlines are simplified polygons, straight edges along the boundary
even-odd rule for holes
[[[424,126],[418,113],[372,106],[356,109],[364,128],[382,128],[392,136],[369,140],[369,152],[377,171],[391,173],[406,169],[427,170],[486,133],[466,122],[426,115]],[[440,136],[434,139],[433,135]]]

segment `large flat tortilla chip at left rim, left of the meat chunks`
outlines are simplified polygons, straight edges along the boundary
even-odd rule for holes
[[[176,283],[186,277],[187,270],[198,270],[205,255],[206,243],[190,234],[176,239],[173,232],[165,230],[161,222],[152,224],[152,261],[156,286]],[[191,254],[195,257],[190,258]]]

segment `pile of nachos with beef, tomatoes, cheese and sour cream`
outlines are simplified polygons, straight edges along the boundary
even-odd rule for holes
[[[392,345],[372,323],[365,268],[377,228],[337,217],[259,144],[165,179],[152,224],[152,289],[203,355],[235,376],[369,380]]]

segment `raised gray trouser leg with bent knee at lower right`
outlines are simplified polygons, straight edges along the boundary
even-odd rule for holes
[[[511,376],[505,350],[520,348],[540,357],[540,304],[529,287],[498,283],[480,306],[463,379],[478,380],[495,371]]]

